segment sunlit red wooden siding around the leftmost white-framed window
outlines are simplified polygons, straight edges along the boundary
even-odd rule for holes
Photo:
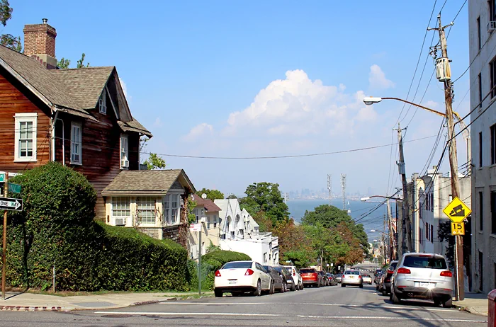
[[[21,172],[50,161],[50,117],[0,71],[0,170]],[[14,162],[16,113],[37,113],[36,161]]]

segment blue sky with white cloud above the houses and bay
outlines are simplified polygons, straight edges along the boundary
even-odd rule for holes
[[[9,2],[12,19],[0,33],[22,37],[23,25],[48,18],[57,59],[75,67],[84,52],[91,66],[117,67],[133,116],[154,135],[147,151],[183,168],[197,189],[226,195],[242,196],[264,181],[283,192],[326,188],[327,174],[338,192],[341,173],[349,193],[390,194],[401,184],[398,120],[407,127],[412,176],[439,161],[442,144],[430,163],[429,155],[442,118],[398,101],[366,106],[363,97],[407,98],[444,111],[443,84],[430,80],[436,31],[422,47],[434,4],[432,27],[443,4],[444,25],[461,9],[448,29],[452,76],[469,64],[464,0]],[[470,110],[469,85],[468,74],[454,85],[453,109],[461,115]],[[461,165],[465,142],[457,141]],[[367,147],[377,148],[348,151]],[[336,151],[345,152],[168,156]],[[439,171],[449,171],[446,161]]]

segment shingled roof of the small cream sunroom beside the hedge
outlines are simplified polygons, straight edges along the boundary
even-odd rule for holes
[[[196,192],[193,183],[182,169],[157,171],[121,171],[103,189],[101,195],[166,195],[178,181]]]

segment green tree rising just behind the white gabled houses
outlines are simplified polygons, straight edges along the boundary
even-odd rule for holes
[[[280,220],[288,220],[288,206],[284,203],[277,183],[253,183],[244,191],[247,195],[239,200],[242,209],[254,216],[257,212],[265,212],[275,224]]]

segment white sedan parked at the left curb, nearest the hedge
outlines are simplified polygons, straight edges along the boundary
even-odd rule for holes
[[[237,297],[251,292],[259,297],[262,292],[274,293],[274,282],[264,268],[254,261],[232,261],[215,272],[215,297],[225,292]]]

